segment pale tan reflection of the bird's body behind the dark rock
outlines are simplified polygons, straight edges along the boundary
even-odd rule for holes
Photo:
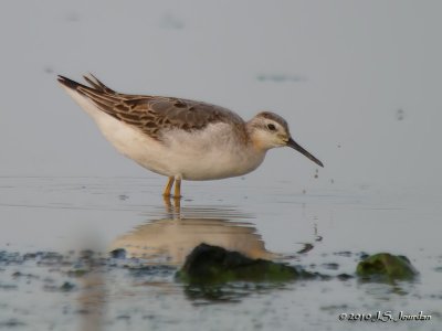
[[[246,222],[252,216],[234,207],[167,205],[166,213],[161,214],[116,238],[110,250],[125,249],[127,257],[177,266],[201,243],[236,250],[251,258],[277,257],[265,249],[256,228]]]

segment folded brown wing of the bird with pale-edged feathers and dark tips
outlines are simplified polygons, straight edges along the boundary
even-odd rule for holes
[[[93,75],[84,78],[91,87],[63,76],[59,76],[59,82],[88,97],[101,110],[137,127],[154,139],[159,140],[164,129],[192,131],[211,122],[244,124],[236,114],[219,106],[172,97],[119,94]]]

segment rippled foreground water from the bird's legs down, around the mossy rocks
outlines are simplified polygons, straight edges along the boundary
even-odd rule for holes
[[[370,186],[293,194],[291,182],[185,182],[181,206],[160,178],[1,178],[0,328],[17,330],[439,330],[441,206],[434,193]],[[406,255],[414,281],[356,278],[186,286],[173,277],[200,242],[354,275],[364,254]],[[108,252],[125,248],[126,256]],[[88,249],[88,250],[86,250]],[[391,311],[430,321],[339,321]]]

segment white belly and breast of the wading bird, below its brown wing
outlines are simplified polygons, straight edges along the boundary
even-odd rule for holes
[[[193,132],[171,130],[157,141],[97,109],[88,99],[70,94],[119,152],[159,174],[185,180],[223,179],[253,171],[265,157],[265,151],[239,141],[228,124],[209,125]]]

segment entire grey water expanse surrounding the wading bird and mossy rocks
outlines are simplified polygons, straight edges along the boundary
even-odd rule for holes
[[[0,11],[0,330],[442,330],[442,2],[44,3]],[[272,150],[167,206],[165,179],[56,83],[87,72],[244,119],[273,110],[325,168]],[[200,241],[332,277],[189,288],[173,275]],[[378,252],[419,278],[335,277]],[[377,311],[432,319],[338,321]]]

